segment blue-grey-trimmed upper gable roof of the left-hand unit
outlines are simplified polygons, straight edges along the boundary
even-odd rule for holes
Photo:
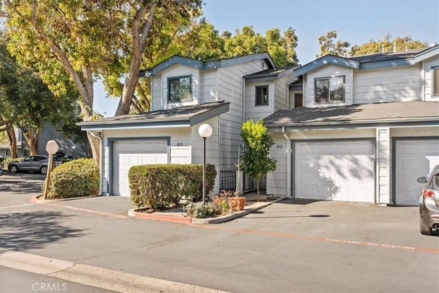
[[[236,57],[230,57],[230,58],[224,58],[218,60],[207,60],[207,61],[195,60],[183,56],[174,55],[171,56],[170,58],[167,58],[163,62],[158,63],[158,65],[152,67],[152,69],[139,71],[139,77],[144,77],[147,75],[157,75],[158,73],[161,73],[161,71],[164,71],[165,69],[168,69],[169,67],[176,64],[186,65],[196,69],[215,69],[215,68],[227,67],[230,65],[237,65],[245,62],[251,62],[255,60],[265,60],[268,62],[268,66],[270,68],[276,67],[272,57],[268,53],[251,54],[251,55],[236,56]]]

